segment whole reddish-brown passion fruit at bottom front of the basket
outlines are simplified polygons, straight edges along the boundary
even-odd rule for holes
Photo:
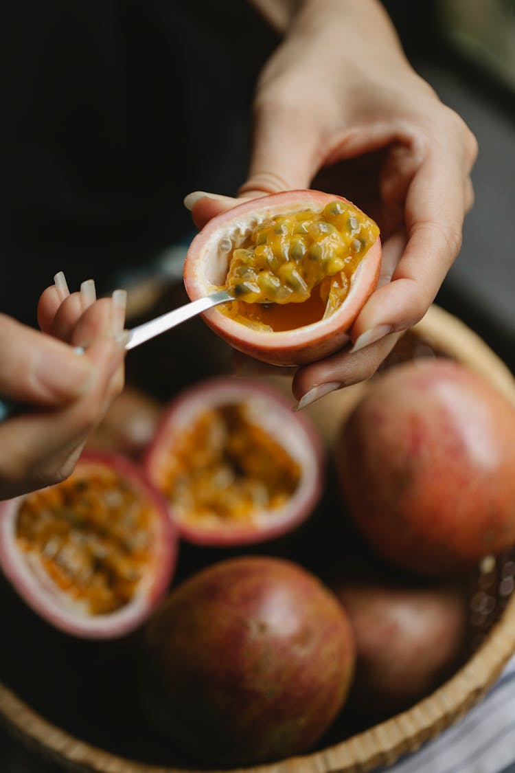
[[[337,599],[285,560],[214,564],[146,628],[153,705],[171,743],[209,764],[297,754],[347,696],[354,639]]]

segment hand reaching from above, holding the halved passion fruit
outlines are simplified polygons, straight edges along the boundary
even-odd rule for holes
[[[259,78],[254,135],[240,197],[318,188],[381,228],[379,287],[351,329],[354,348],[297,371],[302,406],[371,376],[431,305],[473,204],[476,140],[409,66],[375,0],[303,3]],[[198,226],[237,203],[208,196],[186,199]]]

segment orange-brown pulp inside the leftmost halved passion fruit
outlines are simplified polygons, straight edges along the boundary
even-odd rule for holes
[[[19,547],[90,615],[132,598],[148,561],[150,506],[116,472],[76,472],[29,494],[16,524]]]

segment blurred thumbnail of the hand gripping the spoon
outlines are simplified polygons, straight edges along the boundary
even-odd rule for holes
[[[36,361],[33,377],[49,397],[79,397],[90,383],[90,360],[75,350],[50,350]]]

